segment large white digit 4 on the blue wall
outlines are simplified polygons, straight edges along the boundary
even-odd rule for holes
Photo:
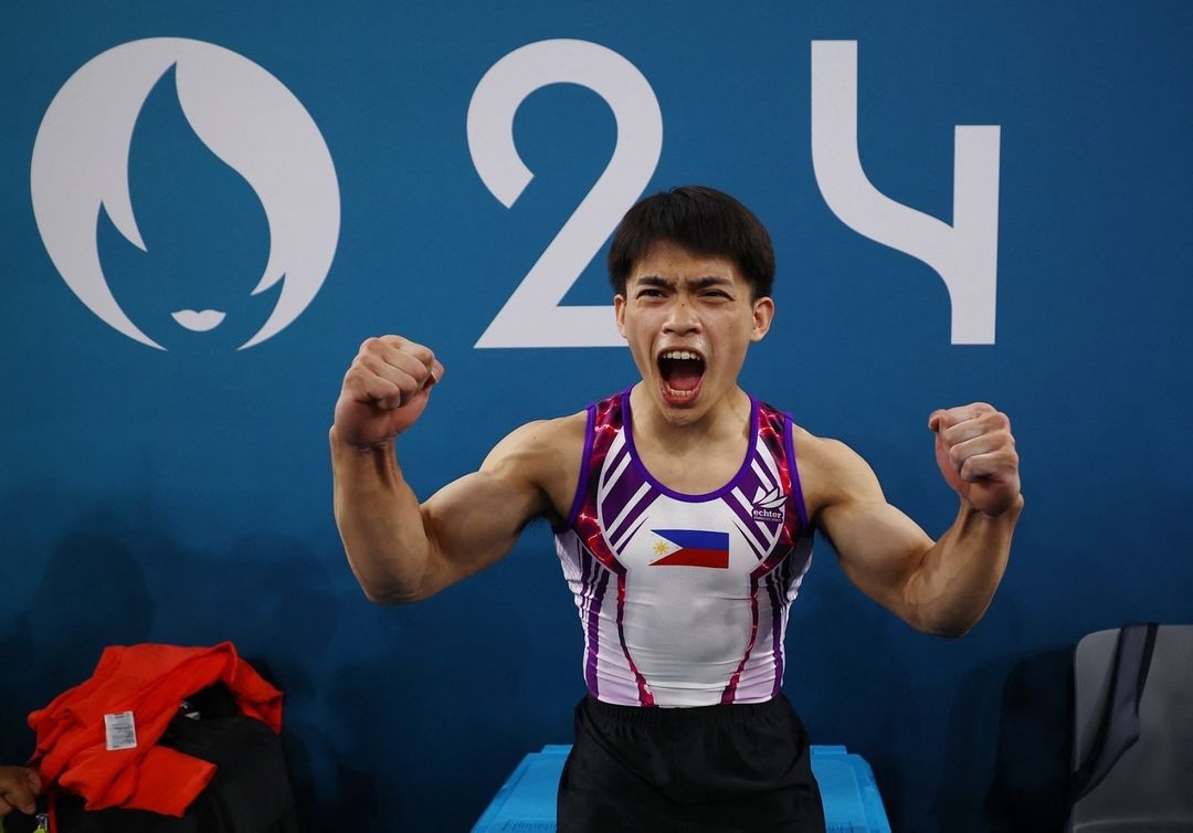
[[[871,240],[922,260],[952,304],[953,344],[994,344],[999,253],[999,125],[953,134],[953,224],[897,203],[858,155],[858,42],[812,41],[812,168],[824,202]]]

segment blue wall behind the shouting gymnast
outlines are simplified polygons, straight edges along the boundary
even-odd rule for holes
[[[230,638],[267,670],[288,695],[286,749],[320,829],[465,829],[525,752],[570,739],[582,641],[545,526],[434,599],[372,606],[332,518],[326,434],[358,344],[384,332],[432,345],[447,366],[401,445],[424,494],[523,421],[632,381],[624,348],[474,347],[601,175],[618,128],[591,90],[536,92],[514,121],[534,178],[507,209],[474,166],[469,103],[507,54],[576,38],[620,55],[657,99],[661,154],[639,191],[710,184],[774,235],[778,317],[747,363],[748,389],[849,443],[933,533],[956,500],[927,414],[975,399],[1010,414],[1027,508],[975,631],[913,633],[821,543],[787,640],[786,691],[814,740],[871,761],[896,829],[990,828],[1015,670],[1089,630],[1193,621],[1193,6],[407,6],[0,12],[2,759],[29,754],[24,716],[86,678],[103,646],[140,641]],[[69,241],[98,253],[112,297],[165,350],[72,294],[35,221],[35,202],[58,216],[75,187],[30,187],[55,95],[97,55],[161,37],[216,44],[277,79],[292,95],[274,97],[282,115],[301,101],[334,163],[334,260],[315,269],[326,280],[243,350],[279,298],[280,284],[249,295],[277,205],[197,137],[175,91],[181,60],[144,98],[128,146],[147,252],[106,210]],[[821,196],[814,41],[858,43],[865,172],[916,211],[952,222],[954,125],[1000,125],[993,344],[954,343],[933,267],[858,234]],[[117,88],[131,75],[105,78]],[[88,171],[100,140],[68,116],[75,129],[58,141]],[[286,156],[301,132],[272,140],[295,178],[309,172]],[[315,203],[326,234],[329,202]],[[602,255],[564,303],[608,302]],[[180,308],[227,319],[192,332],[169,317]]]

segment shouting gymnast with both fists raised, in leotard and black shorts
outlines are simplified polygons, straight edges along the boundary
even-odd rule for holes
[[[444,368],[396,335],[364,343],[330,432],[348,562],[373,601],[418,601],[548,518],[588,687],[558,829],[823,831],[806,735],[781,691],[812,532],[913,628],[964,634],[1002,578],[1024,504],[1009,422],[983,403],[928,416],[960,501],[933,541],[857,453],[737,385],[774,315],[771,239],[741,203],[706,187],[648,197],[618,226],[608,265],[641,381],[515,428],[424,502],[395,438]]]

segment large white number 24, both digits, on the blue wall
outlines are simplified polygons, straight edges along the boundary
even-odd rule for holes
[[[857,42],[812,42],[812,167],[824,200],[849,228],[932,266],[952,303],[953,344],[994,344],[999,128],[958,127],[953,226],[880,193],[858,153]],[[519,105],[550,84],[600,95],[617,121],[601,177],[476,343],[477,347],[606,347],[624,344],[612,307],[560,302],[622,215],[642,195],[662,150],[650,84],[617,53],[587,41],[540,41],[495,63],[472,93],[468,144],[481,180],[507,208],[533,178],[514,146]]]

